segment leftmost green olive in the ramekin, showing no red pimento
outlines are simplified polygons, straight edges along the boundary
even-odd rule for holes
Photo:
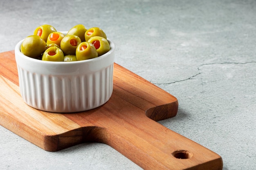
[[[45,41],[38,35],[30,35],[21,43],[20,52],[28,57],[40,58],[45,51],[45,46]]]

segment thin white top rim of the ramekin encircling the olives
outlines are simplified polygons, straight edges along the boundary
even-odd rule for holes
[[[61,33],[64,33],[64,34],[67,33],[67,31],[58,31],[58,32],[61,32]],[[45,63],[45,64],[52,64],[52,65],[60,65],[60,64],[61,64],[61,65],[71,65],[71,64],[88,63],[88,62],[94,62],[94,61],[96,62],[96,61],[98,61],[98,60],[102,60],[103,58],[108,57],[108,55],[110,55],[111,53],[113,53],[113,52],[115,51],[115,44],[114,44],[114,42],[113,42],[112,40],[110,40],[109,38],[107,38],[108,43],[109,43],[109,45],[110,45],[110,50],[109,50],[107,53],[105,53],[105,54],[103,54],[103,55],[101,55],[101,56],[99,56],[99,57],[91,58],[91,59],[88,59],[88,60],[74,61],[74,62],[43,61],[43,60],[38,60],[38,59],[35,59],[35,58],[32,58],[32,57],[28,57],[27,55],[24,55],[23,53],[21,53],[21,51],[20,51],[20,46],[21,46],[21,43],[22,43],[24,40],[25,40],[25,38],[22,39],[22,40],[20,40],[20,41],[16,44],[16,46],[15,46],[15,53],[17,53],[17,55],[19,55],[19,57],[22,57],[22,58],[24,58],[25,60],[29,60],[29,61],[31,61],[31,62],[38,62],[38,63],[41,63],[41,64]]]

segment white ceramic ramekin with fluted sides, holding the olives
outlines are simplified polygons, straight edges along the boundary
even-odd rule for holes
[[[110,99],[115,58],[115,44],[111,40],[108,39],[108,53],[76,62],[27,57],[20,52],[22,41],[15,47],[15,59],[20,94],[29,106],[48,112],[71,113],[99,107]]]

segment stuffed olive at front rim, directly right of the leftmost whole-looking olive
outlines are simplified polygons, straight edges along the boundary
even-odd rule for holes
[[[64,54],[56,46],[51,46],[49,49],[45,50],[42,57],[43,61],[52,61],[52,62],[63,62]]]

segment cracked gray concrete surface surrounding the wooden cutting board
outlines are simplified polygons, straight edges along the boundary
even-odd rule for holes
[[[223,170],[256,170],[255,0],[2,0],[0,52],[41,24],[101,27],[115,62],[179,100],[159,123],[218,153]],[[2,170],[139,170],[105,144],[47,152],[0,126]]]

